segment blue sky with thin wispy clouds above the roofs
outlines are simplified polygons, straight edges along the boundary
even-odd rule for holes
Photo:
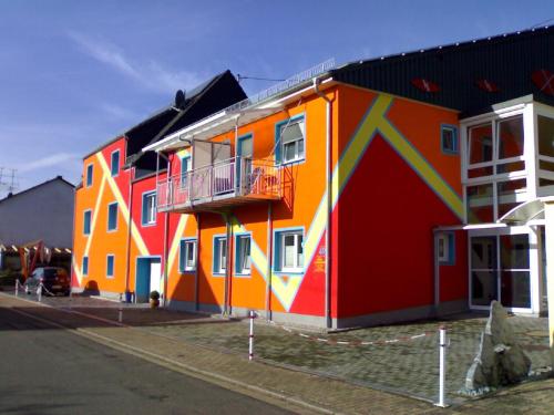
[[[78,183],[86,153],[226,69],[281,79],[553,18],[552,0],[0,0],[0,167],[20,190]]]

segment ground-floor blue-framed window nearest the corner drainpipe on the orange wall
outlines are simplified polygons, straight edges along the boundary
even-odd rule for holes
[[[275,234],[276,271],[304,272],[304,231]]]

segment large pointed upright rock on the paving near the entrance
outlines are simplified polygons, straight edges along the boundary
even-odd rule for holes
[[[531,361],[515,340],[506,310],[493,301],[478,355],[465,376],[465,392],[480,394],[521,382],[530,367]]]

